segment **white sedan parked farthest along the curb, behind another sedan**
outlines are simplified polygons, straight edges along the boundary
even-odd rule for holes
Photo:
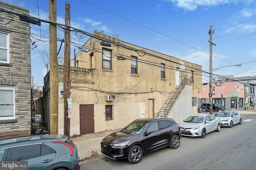
[[[242,124],[242,118],[236,111],[219,111],[215,114],[220,119],[220,126],[233,127]]]

